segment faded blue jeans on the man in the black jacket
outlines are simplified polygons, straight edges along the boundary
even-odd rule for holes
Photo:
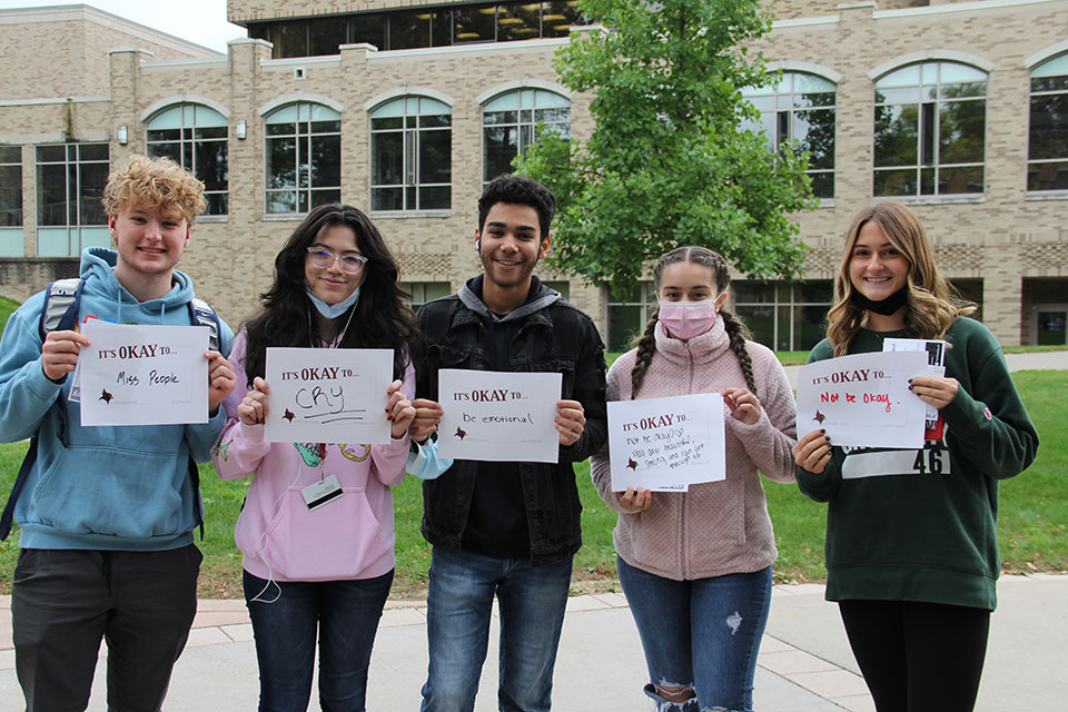
[[[431,664],[423,712],[474,709],[494,594],[501,616],[498,709],[547,711],[571,567],[571,556],[534,567],[526,560],[435,547],[426,601]]]

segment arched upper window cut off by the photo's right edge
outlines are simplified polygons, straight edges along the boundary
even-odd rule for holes
[[[1068,55],[1031,70],[1027,189],[1068,190]]]

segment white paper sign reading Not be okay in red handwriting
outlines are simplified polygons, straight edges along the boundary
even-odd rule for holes
[[[802,366],[798,434],[823,428],[832,445],[923,447],[927,405],[909,390],[909,378],[926,373],[926,352],[854,354]]]

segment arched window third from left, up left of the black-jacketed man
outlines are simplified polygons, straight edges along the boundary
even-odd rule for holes
[[[370,209],[452,207],[452,108],[402,97],[370,112]]]

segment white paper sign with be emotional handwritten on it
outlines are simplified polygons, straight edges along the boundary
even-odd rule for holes
[[[442,368],[438,454],[454,459],[558,462],[555,418],[562,383],[558,373]]]

